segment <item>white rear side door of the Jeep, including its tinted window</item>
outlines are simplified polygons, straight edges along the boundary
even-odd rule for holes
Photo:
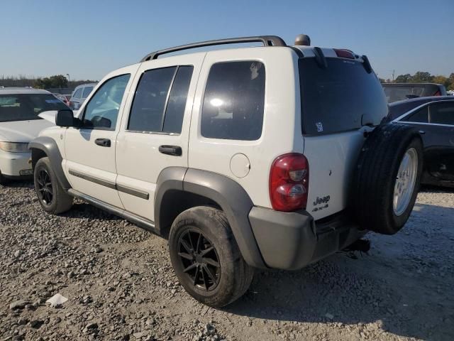
[[[128,212],[154,221],[157,178],[187,167],[189,121],[204,53],[140,65],[116,150],[118,195]]]

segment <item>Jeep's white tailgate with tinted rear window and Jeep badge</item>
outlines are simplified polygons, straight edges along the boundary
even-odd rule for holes
[[[380,82],[360,60],[328,57],[326,65],[315,58],[299,60],[301,128],[309,161],[306,210],[316,220],[347,207],[364,132],[388,112]]]

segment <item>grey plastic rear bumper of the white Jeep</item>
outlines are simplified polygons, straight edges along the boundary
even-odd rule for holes
[[[249,221],[265,264],[275,269],[301,269],[348,247],[366,233],[343,214],[314,222],[306,211],[253,207]]]

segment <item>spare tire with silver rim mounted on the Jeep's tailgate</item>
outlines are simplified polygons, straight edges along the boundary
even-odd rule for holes
[[[419,131],[382,124],[367,136],[355,168],[350,203],[361,229],[394,234],[413,210],[423,169]]]

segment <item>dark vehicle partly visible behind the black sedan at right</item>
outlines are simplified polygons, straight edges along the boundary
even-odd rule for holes
[[[389,103],[416,97],[446,96],[446,88],[434,83],[382,83]]]

